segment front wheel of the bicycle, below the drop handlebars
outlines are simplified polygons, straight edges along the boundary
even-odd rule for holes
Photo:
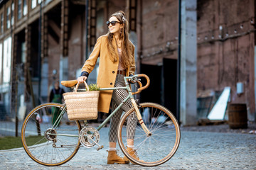
[[[118,126],[118,142],[124,155],[134,164],[157,166],[174,156],[181,132],[174,115],[156,103],[139,104],[139,112],[151,135],[142,129],[135,108],[125,113]],[[127,143],[128,141],[128,143]],[[127,145],[134,143],[134,149]]]

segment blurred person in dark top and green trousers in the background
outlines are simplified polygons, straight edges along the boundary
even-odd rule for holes
[[[64,89],[60,88],[59,81],[55,81],[53,89],[50,91],[49,102],[62,103],[64,93],[65,93]],[[58,115],[60,114],[60,110],[58,108],[53,107],[51,109],[51,114],[52,114],[52,124],[54,124],[56,119],[58,118]]]

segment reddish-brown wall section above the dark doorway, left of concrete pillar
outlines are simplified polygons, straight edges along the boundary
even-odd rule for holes
[[[142,0],[142,63],[177,58],[178,1]],[[168,49],[167,49],[168,48]]]

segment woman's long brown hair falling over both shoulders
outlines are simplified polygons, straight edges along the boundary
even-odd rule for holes
[[[125,13],[123,11],[119,11],[113,13],[110,18],[114,16],[117,20],[122,24],[124,23],[124,27],[122,28],[122,33],[120,33],[120,39],[122,40],[122,64],[125,68],[128,68],[132,63],[132,42],[129,40],[129,33],[128,33],[128,21],[125,18]],[[114,34],[107,33],[107,49],[110,52],[110,60],[112,62],[117,62],[117,55],[114,52],[114,46],[112,45],[112,40],[114,38]]]

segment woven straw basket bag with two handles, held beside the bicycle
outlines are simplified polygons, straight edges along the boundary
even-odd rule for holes
[[[89,91],[86,82],[87,91],[78,92],[78,86],[75,86],[75,92],[63,94],[65,105],[68,110],[69,120],[92,120],[97,119],[97,107],[100,91]]]

